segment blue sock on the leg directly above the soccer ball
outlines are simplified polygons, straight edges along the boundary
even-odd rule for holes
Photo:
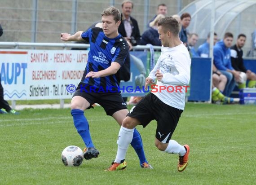
[[[84,111],[79,109],[73,109],[71,110],[71,115],[73,116],[75,128],[84,140],[84,144],[86,145],[86,147],[94,147],[90,135],[89,124],[84,116]]]

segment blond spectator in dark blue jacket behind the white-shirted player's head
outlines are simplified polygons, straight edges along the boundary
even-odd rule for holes
[[[157,15],[152,22],[150,22],[150,28],[147,29],[141,35],[140,45],[152,44],[153,46],[161,46],[161,41],[159,40],[158,26],[157,23],[161,18],[164,18],[164,15]]]

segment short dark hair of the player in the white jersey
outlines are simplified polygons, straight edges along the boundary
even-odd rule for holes
[[[180,31],[179,22],[173,17],[166,17],[159,20],[157,26],[162,26],[163,31],[171,31],[173,35],[178,35]]]

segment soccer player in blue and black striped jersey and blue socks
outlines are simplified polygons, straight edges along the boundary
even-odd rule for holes
[[[86,145],[84,159],[97,158],[99,154],[93,145],[84,110],[98,103],[119,125],[128,114],[119,90],[119,69],[129,51],[126,40],[118,33],[120,22],[119,10],[110,7],[102,12],[102,28],[93,27],[85,32],[78,31],[74,35],[61,34],[63,41],[87,40],[90,43],[84,75],[71,100],[71,115],[75,128]],[[152,168],[146,160],[141,136],[137,130],[133,133],[131,145],[140,159],[141,167]]]

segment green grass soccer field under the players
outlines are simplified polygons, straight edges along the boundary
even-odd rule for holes
[[[178,156],[154,146],[156,122],[138,126],[153,170],[141,169],[129,147],[123,171],[104,172],[117,150],[119,126],[102,107],[87,110],[97,159],[65,167],[62,150],[83,149],[69,109],[26,109],[21,115],[0,115],[0,185],[255,185],[256,106],[188,103],[172,139],[190,145],[184,172]]]

